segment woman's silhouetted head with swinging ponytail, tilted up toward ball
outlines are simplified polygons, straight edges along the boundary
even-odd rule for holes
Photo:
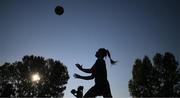
[[[115,64],[117,61],[114,61],[111,59],[111,55],[109,50],[105,49],[105,48],[100,48],[95,55],[97,58],[104,58],[106,56],[109,57],[111,64]]]

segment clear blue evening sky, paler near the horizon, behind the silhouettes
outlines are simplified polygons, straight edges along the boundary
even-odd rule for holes
[[[180,61],[179,38],[180,0],[0,0],[0,64],[31,54],[60,60],[70,75],[64,97],[94,85],[73,74],[89,75],[75,64],[91,68],[99,48],[118,61],[111,66],[105,59],[113,97],[130,97],[134,61],[165,52]]]

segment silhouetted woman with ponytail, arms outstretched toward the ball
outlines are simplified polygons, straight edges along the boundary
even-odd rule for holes
[[[84,79],[84,80],[90,80],[95,78],[95,85],[91,87],[86,94],[84,95],[84,98],[87,97],[96,97],[96,96],[103,96],[112,98],[110,85],[107,80],[107,70],[106,70],[106,63],[104,61],[104,57],[108,56],[110,59],[111,64],[115,64],[116,61],[113,61],[111,59],[110,52],[107,49],[100,48],[96,52],[96,62],[90,69],[84,69],[82,68],[82,65],[76,64],[76,67],[85,72],[85,73],[91,73],[90,76],[81,76],[78,74],[74,74],[75,78]]]

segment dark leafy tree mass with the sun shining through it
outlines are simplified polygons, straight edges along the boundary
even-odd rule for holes
[[[39,80],[32,80],[33,74]],[[68,79],[67,67],[60,61],[24,56],[0,66],[0,97],[63,97]]]

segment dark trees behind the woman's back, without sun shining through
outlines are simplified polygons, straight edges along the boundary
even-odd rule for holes
[[[129,91],[133,97],[180,97],[180,68],[172,53],[136,59]]]

